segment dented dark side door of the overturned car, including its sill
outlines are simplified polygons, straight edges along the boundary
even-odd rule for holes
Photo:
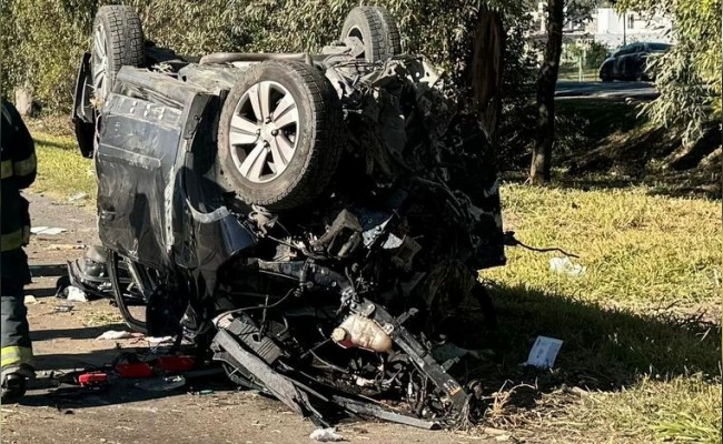
[[[196,119],[190,113],[198,94],[169,75],[123,67],[100,117],[96,155],[100,240],[103,246],[159,270],[174,266],[177,159],[192,134],[189,124]]]

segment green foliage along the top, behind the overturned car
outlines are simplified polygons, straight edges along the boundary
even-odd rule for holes
[[[71,104],[78,60],[89,48],[96,11],[119,0],[8,0],[2,2],[2,91],[29,88],[50,111]],[[358,0],[126,0],[143,22],[146,37],[180,54],[215,51],[316,52],[339,37]],[[361,2],[364,3],[364,2]],[[379,0],[397,19],[403,48],[424,53],[457,85],[464,82],[481,8],[502,10],[516,23],[523,2]],[[516,36],[515,38],[519,38]],[[517,49],[517,47],[514,47]],[[516,63],[519,54],[511,60]],[[7,61],[7,62],[6,62]]]

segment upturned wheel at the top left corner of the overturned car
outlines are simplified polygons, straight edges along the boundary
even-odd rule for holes
[[[102,109],[120,67],[145,65],[143,42],[140,18],[133,8],[112,4],[98,10],[90,63],[96,108]]]

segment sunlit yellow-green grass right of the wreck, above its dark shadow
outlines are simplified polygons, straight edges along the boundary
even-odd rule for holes
[[[503,194],[506,225],[517,238],[574,252],[587,272],[574,279],[551,273],[551,254],[513,249],[509,266],[486,275],[606,306],[717,304],[720,201],[667,199],[647,191],[508,185]]]

